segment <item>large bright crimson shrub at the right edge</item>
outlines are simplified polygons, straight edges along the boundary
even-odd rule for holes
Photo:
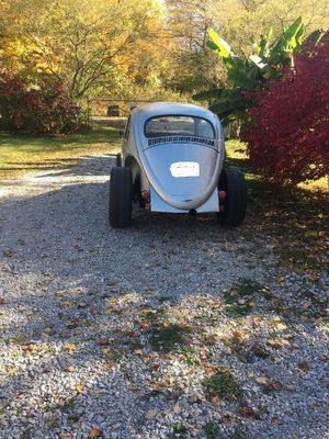
[[[308,46],[254,100],[242,130],[253,166],[280,184],[329,175],[329,40]]]

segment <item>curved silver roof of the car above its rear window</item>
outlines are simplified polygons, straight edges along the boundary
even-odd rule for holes
[[[203,106],[181,102],[152,102],[138,105],[132,110],[132,115],[144,120],[164,115],[190,115],[196,117],[213,119],[214,113]]]

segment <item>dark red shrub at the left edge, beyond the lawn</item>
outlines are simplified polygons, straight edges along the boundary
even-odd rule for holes
[[[14,71],[0,66],[0,128],[56,135],[77,132],[81,124],[81,111],[63,85],[44,77],[29,89]]]

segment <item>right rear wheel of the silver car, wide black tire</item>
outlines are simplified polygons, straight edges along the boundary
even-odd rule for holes
[[[245,175],[239,169],[223,169],[218,189],[226,192],[225,201],[220,204],[223,212],[219,212],[219,223],[225,227],[239,226],[247,209]]]

